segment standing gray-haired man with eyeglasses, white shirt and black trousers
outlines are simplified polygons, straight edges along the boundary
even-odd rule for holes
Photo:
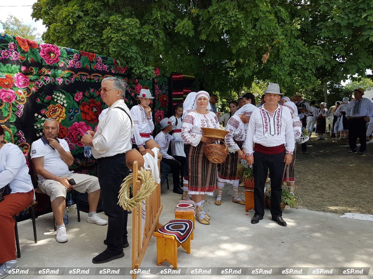
[[[90,145],[97,162],[98,182],[101,187],[102,206],[108,216],[108,228],[104,244],[107,248],[92,259],[93,263],[106,263],[124,256],[128,247],[128,212],[118,202],[118,192],[123,179],[128,175],[126,152],[132,149],[134,123],[123,98],[127,84],[115,77],[101,81],[102,100],[109,106],[106,116],[101,118],[97,131],[88,131],[81,142]]]

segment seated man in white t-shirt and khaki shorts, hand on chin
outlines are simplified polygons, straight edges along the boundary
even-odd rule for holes
[[[53,118],[44,122],[44,136],[32,142],[31,158],[38,174],[39,189],[50,196],[52,211],[57,225],[57,242],[68,241],[63,215],[65,213],[67,189],[74,189],[81,193],[88,193],[89,213],[88,223],[106,225],[107,221],[96,213],[100,199],[100,184],[95,176],[73,173],[69,166],[74,162],[68,143],[57,138],[59,124]],[[72,186],[69,179],[75,180]]]

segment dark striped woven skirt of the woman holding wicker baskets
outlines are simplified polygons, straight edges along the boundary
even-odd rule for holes
[[[206,144],[200,142],[196,147],[189,146],[188,152],[188,181],[189,194],[212,195],[217,188],[217,164],[211,163],[203,153]]]

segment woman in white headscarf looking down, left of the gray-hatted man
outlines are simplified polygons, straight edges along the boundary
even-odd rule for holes
[[[237,166],[239,160],[245,157],[245,148],[242,148],[242,144],[246,139],[246,133],[248,123],[250,120],[251,113],[256,106],[246,104],[242,106],[237,112],[229,119],[225,130],[229,131],[229,134],[225,136],[225,143],[232,153],[229,153],[224,163],[220,165],[219,177],[217,183],[217,198],[215,201],[216,205],[222,204],[222,192],[224,183],[230,183],[233,187],[233,198],[232,202],[245,205],[245,202],[238,196],[238,183],[239,177],[237,176]]]

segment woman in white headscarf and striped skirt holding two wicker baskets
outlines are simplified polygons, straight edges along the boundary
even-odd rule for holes
[[[219,129],[215,113],[209,111],[209,93],[197,92],[193,111],[189,112],[181,128],[181,137],[185,142],[185,151],[189,165],[189,194],[196,206],[196,219],[201,224],[209,225],[210,216],[203,211],[202,202],[206,195],[213,195],[216,189],[217,165],[211,163],[203,153],[203,147],[213,140],[204,137],[201,127]]]

